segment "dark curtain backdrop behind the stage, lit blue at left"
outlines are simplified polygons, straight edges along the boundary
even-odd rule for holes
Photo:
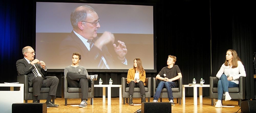
[[[68,0],[62,2],[65,1]],[[6,73],[1,74],[0,83],[17,81],[15,63],[23,58],[22,48],[32,46],[35,49],[36,46],[35,4],[31,2],[21,5],[22,2],[0,1],[0,69],[2,73]],[[209,84],[209,77],[216,76],[225,61],[226,51],[234,49],[244,63],[247,74],[246,99],[255,98],[252,62],[256,50],[253,20],[255,8],[252,2],[221,0],[176,0],[169,1],[170,3],[163,0],[116,2],[156,3],[157,72],[146,72],[147,77],[155,77],[162,67],[166,66],[168,55],[174,55],[177,57],[175,64],[182,71],[183,84],[192,83],[193,78],[198,82],[203,78],[204,84]],[[54,56],[49,55],[49,57]],[[103,84],[107,83],[109,78],[113,79],[113,84],[121,84],[121,77],[127,76],[126,72],[89,72],[89,74],[98,74],[98,78],[103,79]],[[48,72],[47,76],[57,76],[61,79],[64,72]],[[95,84],[98,84],[98,80]],[[118,90],[113,88],[111,96],[118,97]],[[185,95],[193,96],[193,89],[186,88]],[[95,88],[95,97],[101,96],[102,88]],[[209,88],[203,88],[203,96],[209,96]],[[57,97],[61,97],[61,82]]]

